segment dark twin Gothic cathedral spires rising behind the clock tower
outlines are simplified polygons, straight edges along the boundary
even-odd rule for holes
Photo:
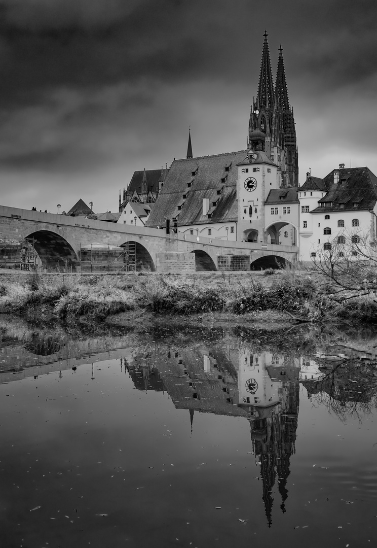
[[[297,140],[293,109],[288,100],[283,49],[280,46],[274,87],[267,36],[265,32],[258,95],[251,107],[247,148],[251,148],[256,131],[263,133],[263,150],[279,167],[279,186],[298,186]]]

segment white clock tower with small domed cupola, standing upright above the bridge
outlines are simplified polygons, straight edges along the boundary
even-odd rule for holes
[[[265,153],[265,135],[259,129],[250,135],[250,150],[237,166],[238,237],[266,243],[264,202],[272,189],[279,188],[277,165]]]

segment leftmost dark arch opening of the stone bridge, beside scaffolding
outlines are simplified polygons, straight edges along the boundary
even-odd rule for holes
[[[34,249],[47,270],[66,272],[72,269],[74,272],[80,266],[78,250],[62,231],[54,227],[34,227],[31,232],[24,233],[22,238],[34,239]]]

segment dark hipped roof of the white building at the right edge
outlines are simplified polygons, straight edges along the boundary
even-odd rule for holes
[[[318,203],[328,205],[312,212],[372,209],[377,201],[377,177],[367,167],[339,169],[338,183],[334,183],[333,170],[324,183],[328,192]]]

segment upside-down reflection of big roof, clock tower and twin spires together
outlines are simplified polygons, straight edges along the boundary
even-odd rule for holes
[[[206,347],[170,349],[153,356],[154,367],[149,369],[143,359],[127,367],[135,386],[153,389],[151,379],[155,375],[154,390],[165,389],[177,409],[189,410],[191,429],[195,411],[250,420],[270,527],[276,481],[280,508],[286,511],[298,423],[299,363],[270,352],[252,353],[247,347],[229,353]]]

